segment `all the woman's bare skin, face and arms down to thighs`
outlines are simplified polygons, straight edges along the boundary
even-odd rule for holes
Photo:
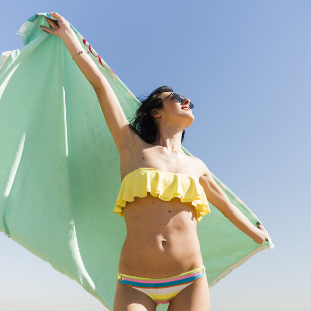
[[[58,19],[57,22],[46,18],[52,29],[40,27],[60,36],[71,55],[84,50],[69,23],[58,13],[51,15]],[[131,130],[116,95],[90,56],[81,53],[75,56],[74,61],[93,86],[114,137],[120,154],[121,179],[140,167],[191,175],[202,185],[208,201],[241,231],[259,244],[268,238],[262,225],[255,227],[230,203],[207,166],[200,159],[183,152],[182,132],[194,120],[192,110],[188,109],[189,99],[179,103],[172,95],[165,99],[170,92],[161,94],[162,100],[165,99],[163,107],[151,111],[157,127],[156,140],[149,144]],[[196,213],[191,203],[181,203],[179,198],[166,202],[148,194],[127,202],[123,213],[127,236],[120,254],[119,272],[163,278],[202,266]],[[209,305],[207,278],[203,276],[181,290],[168,310],[208,311]],[[156,311],[156,303],[141,291],[117,282],[113,309]]]

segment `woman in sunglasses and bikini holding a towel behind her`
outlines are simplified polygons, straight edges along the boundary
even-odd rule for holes
[[[94,87],[121,160],[121,189],[115,213],[124,216],[127,236],[118,266],[115,311],[209,310],[208,284],[196,226],[208,201],[256,243],[268,233],[256,228],[215,183],[206,165],[181,149],[193,104],[167,86],[142,103],[131,125],[116,95],[83,48],[69,23],[47,18],[73,60]],[[207,201],[208,198],[208,201]]]

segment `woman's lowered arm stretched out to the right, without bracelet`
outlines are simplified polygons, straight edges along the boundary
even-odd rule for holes
[[[256,243],[262,244],[267,240],[269,236],[268,231],[259,223],[257,224],[257,227],[255,227],[248,218],[230,202],[229,198],[217,185],[211,172],[202,161],[201,165],[203,174],[200,177],[200,184],[204,189],[207,200]]]

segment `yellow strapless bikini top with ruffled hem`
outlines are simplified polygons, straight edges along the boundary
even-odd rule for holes
[[[179,197],[183,203],[191,202],[197,211],[197,222],[211,212],[204,189],[196,179],[146,167],[135,169],[123,178],[114,212],[123,217],[126,202],[134,201],[134,197],[146,197],[147,192],[163,201]]]

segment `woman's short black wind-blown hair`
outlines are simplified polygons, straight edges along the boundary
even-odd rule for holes
[[[170,86],[160,86],[145,99],[142,100],[142,96],[138,98],[141,103],[141,106],[137,109],[134,121],[131,122],[130,127],[132,130],[139,135],[145,142],[151,143],[156,140],[156,122],[151,116],[151,110],[162,108],[163,104],[161,103],[163,92],[174,92]],[[185,136],[185,130],[181,135],[181,142],[183,142],[183,137]]]

